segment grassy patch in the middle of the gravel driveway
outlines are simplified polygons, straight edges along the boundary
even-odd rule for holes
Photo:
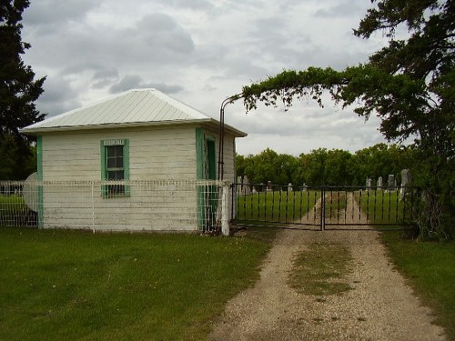
[[[352,256],[347,246],[312,244],[294,259],[289,285],[305,295],[343,293],[351,289],[344,281],[351,262]]]

